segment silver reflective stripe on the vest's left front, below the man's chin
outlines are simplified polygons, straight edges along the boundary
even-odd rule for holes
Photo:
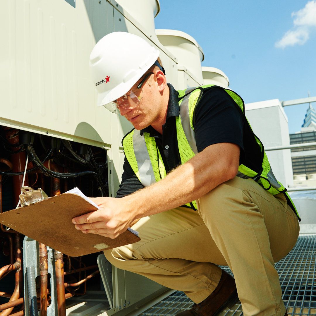
[[[137,157],[138,173],[143,186],[149,186],[156,182],[153,166],[151,165],[146,142],[139,131],[133,135],[135,157]]]

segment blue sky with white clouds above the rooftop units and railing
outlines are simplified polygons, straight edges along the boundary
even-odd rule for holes
[[[202,66],[224,71],[246,103],[316,96],[316,0],[160,0],[160,6],[155,27],[190,34],[203,48]],[[307,108],[284,108],[290,133],[300,131]]]

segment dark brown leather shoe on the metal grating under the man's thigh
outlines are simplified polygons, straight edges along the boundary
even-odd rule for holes
[[[177,314],[178,316],[216,316],[229,304],[238,301],[234,278],[222,271],[221,279],[213,291],[204,301],[194,304],[190,310]]]

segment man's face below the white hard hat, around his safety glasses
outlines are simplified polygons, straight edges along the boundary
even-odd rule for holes
[[[131,91],[135,91],[137,95],[139,91],[137,91],[136,83]],[[151,78],[147,78],[147,80],[142,85],[142,94],[143,97],[140,102],[132,109],[125,109],[123,107],[119,107],[120,114],[124,116],[137,130],[142,130],[143,128],[155,123],[160,117],[160,107],[155,100],[157,100],[157,81],[155,80],[155,74],[151,75]]]

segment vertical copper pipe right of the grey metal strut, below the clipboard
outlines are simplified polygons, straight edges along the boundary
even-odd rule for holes
[[[66,316],[63,254],[55,250],[54,255],[55,255],[58,316]]]

